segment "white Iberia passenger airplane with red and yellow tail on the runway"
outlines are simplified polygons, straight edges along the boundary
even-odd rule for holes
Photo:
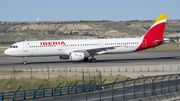
[[[137,52],[169,42],[163,38],[168,14],[161,14],[147,33],[140,38],[40,40],[16,42],[4,54],[23,57],[59,56],[71,61],[96,62],[95,55]]]

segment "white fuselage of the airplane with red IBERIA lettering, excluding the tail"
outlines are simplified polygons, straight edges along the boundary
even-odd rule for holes
[[[17,48],[8,48],[4,53],[6,55],[20,57],[62,56],[69,55],[70,52],[76,50],[90,50],[103,47],[115,47],[114,49],[106,49],[97,53],[118,54],[134,52],[140,46],[142,41],[142,37],[113,39],[23,41],[13,44],[12,46],[17,46]]]

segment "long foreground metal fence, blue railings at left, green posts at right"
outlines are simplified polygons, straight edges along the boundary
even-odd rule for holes
[[[101,99],[106,100],[130,100],[141,97],[155,96],[158,94],[166,94],[180,91],[180,74],[170,75],[157,75],[148,77],[138,77],[136,79],[127,78],[124,81],[118,81],[117,79],[113,83],[104,84],[106,79],[103,80],[99,85],[82,84],[74,86],[63,86],[63,87],[52,87],[52,88],[41,88],[33,90],[13,91],[0,93],[1,101],[4,99],[36,99],[37,97],[55,96],[79,93],[91,90],[99,90],[99,92],[86,93],[85,96],[81,96],[84,100],[87,100],[87,96],[91,94],[94,98],[97,97],[98,101]],[[114,88],[115,87],[115,88]],[[101,91],[101,89],[112,89],[108,91]],[[118,90],[117,90],[118,89]],[[70,93],[71,92],[71,93]],[[105,92],[105,93],[102,93]],[[93,95],[94,94],[94,95]],[[106,97],[104,97],[106,96]],[[76,95],[77,97],[77,95]],[[108,98],[107,98],[108,97]],[[69,98],[67,98],[69,99]],[[90,99],[90,98],[89,98]],[[72,96],[71,96],[72,100]]]

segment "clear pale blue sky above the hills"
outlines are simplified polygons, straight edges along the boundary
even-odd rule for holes
[[[0,0],[0,21],[180,20],[180,0]]]

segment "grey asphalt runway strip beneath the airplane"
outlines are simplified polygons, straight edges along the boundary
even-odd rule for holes
[[[96,63],[69,60],[60,60],[54,57],[28,57],[27,65],[23,65],[22,57],[9,57],[0,55],[0,70],[21,70],[31,66],[32,68],[93,68],[111,66],[150,66],[169,65],[180,63],[180,50],[144,50],[126,54],[107,54],[95,56]]]

